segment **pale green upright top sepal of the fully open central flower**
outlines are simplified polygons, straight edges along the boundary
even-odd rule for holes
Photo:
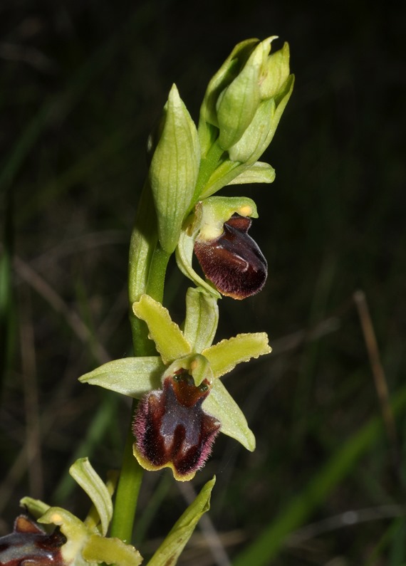
[[[189,288],[183,333],[194,352],[202,352],[212,344],[218,322],[217,299],[202,288]]]

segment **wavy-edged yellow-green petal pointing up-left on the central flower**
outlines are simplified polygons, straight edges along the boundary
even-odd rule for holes
[[[154,340],[165,365],[192,351],[182,330],[172,321],[169,311],[161,303],[149,295],[142,295],[140,300],[132,305],[132,310],[135,316],[147,323],[150,330],[148,337]]]

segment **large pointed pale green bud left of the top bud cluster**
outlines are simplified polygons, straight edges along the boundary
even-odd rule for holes
[[[199,162],[197,128],[176,86],[172,85],[149,172],[158,235],[162,249],[167,253],[172,253],[177,246],[182,221],[194,193]]]

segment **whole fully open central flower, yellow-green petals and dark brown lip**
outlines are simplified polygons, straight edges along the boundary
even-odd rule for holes
[[[134,454],[141,466],[170,467],[178,480],[192,479],[218,431],[254,450],[254,434],[219,377],[271,352],[266,334],[240,334],[212,345],[217,301],[201,288],[187,292],[183,331],[148,295],[132,308],[147,323],[160,357],[108,362],[80,381],[141,399],[134,421]]]

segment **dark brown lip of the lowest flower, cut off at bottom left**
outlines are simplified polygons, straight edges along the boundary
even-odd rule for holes
[[[13,533],[0,538],[0,566],[64,566],[61,546],[65,543],[66,537],[58,528],[49,535],[20,515]]]

